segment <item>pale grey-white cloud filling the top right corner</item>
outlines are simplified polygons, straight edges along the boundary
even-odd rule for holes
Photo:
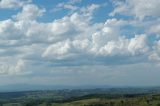
[[[110,13],[111,16],[115,14],[133,15],[138,19],[145,17],[159,17],[160,1],[157,0],[114,0],[115,9]]]

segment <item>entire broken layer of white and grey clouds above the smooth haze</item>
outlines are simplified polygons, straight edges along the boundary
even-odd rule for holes
[[[43,22],[39,19],[49,11],[46,8],[31,1],[1,0],[0,9],[20,11],[0,21],[0,75],[34,76],[45,70],[49,75],[57,67],[79,73],[75,67],[105,66],[104,71],[110,66],[159,64],[159,0],[114,0],[104,22],[93,21],[104,5],[78,7],[81,2],[58,3],[51,11],[67,9],[68,14]]]

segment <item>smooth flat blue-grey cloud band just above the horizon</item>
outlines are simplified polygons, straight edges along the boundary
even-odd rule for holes
[[[39,66],[41,70],[41,66]],[[50,71],[35,71],[32,76],[3,77],[1,84],[34,84],[34,85],[110,85],[110,86],[155,86],[159,83],[159,66],[151,63],[127,64],[118,66],[84,65],[52,67]],[[47,73],[48,72],[48,73]],[[47,73],[47,74],[46,74]],[[135,78],[136,76],[136,78]],[[149,78],[152,78],[149,79]],[[128,80],[133,79],[133,80]],[[53,82],[55,82],[53,84]]]

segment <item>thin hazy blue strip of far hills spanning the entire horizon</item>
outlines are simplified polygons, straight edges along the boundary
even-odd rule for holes
[[[109,91],[139,91],[139,92],[160,92],[160,87],[129,87],[129,86],[108,86],[108,85],[29,85],[13,84],[0,86],[0,92],[17,92],[17,91],[38,91],[38,90],[62,90],[62,89],[108,89]]]

